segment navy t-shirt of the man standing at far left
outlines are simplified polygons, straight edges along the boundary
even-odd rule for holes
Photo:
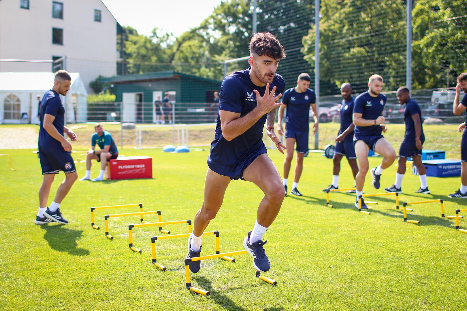
[[[55,117],[52,124],[54,124],[60,135],[63,135],[63,127],[65,125],[65,107],[62,104],[60,96],[54,90],[48,90],[42,97],[40,112],[41,127],[39,129],[38,145],[46,148],[62,148],[62,144],[57,139],[50,136],[49,132],[47,132],[43,127],[44,115],[46,113]]]

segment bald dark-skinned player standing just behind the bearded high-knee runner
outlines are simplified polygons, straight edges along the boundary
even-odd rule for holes
[[[354,111],[354,100],[352,96],[352,86],[350,83],[343,83],[340,86],[340,95],[342,95],[342,102],[340,104],[340,129],[336,136],[336,147],[333,156],[333,183],[323,189],[324,192],[332,189],[339,188],[339,173],[340,173],[340,160],[344,156],[352,169],[352,174],[355,177],[358,173],[357,156],[354,149],[354,123],[352,122],[352,113]],[[355,186],[354,186],[355,187]],[[348,193],[355,193],[355,190],[347,191]]]

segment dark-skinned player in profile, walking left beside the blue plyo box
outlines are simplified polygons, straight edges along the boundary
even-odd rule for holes
[[[396,182],[389,188],[384,188],[384,191],[389,193],[402,194],[402,180],[405,174],[405,163],[408,158],[413,159],[413,163],[417,166],[420,188],[416,191],[419,194],[429,194],[428,186],[426,185],[426,170],[422,163],[422,146],[425,142],[425,134],[422,126],[422,111],[417,102],[410,98],[410,91],[406,86],[401,86],[397,89],[397,99],[401,105],[405,104],[404,123],[405,134],[399,147],[399,159],[397,160]]]

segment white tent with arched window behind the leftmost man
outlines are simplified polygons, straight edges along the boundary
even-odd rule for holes
[[[87,122],[87,92],[78,72],[70,72],[71,87],[60,96],[69,123]],[[0,124],[35,123],[38,101],[54,86],[53,72],[0,72]]]

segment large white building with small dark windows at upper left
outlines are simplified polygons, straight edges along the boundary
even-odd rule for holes
[[[115,76],[117,21],[101,0],[0,0],[0,72],[79,72],[86,90],[101,76]]]

